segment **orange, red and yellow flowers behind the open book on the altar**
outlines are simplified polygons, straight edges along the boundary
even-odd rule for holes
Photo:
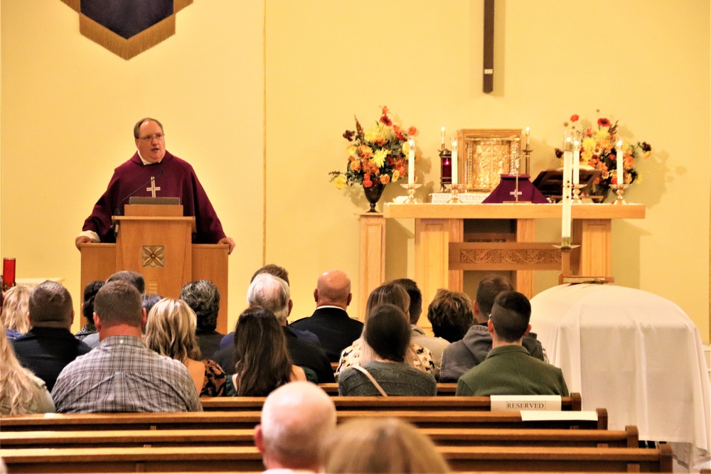
[[[597,110],[599,115],[599,109]],[[622,140],[623,156],[623,176],[624,184],[634,183],[639,178],[639,173],[635,168],[635,160],[643,157],[649,158],[652,153],[652,146],[646,141],[627,141],[617,134],[619,120],[614,124],[606,118],[597,119],[597,129],[593,127],[582,128],[579,124],[580,117],[572,115],[570,117],[570,128],[577,129],[582,133],[580,148],[580,163],[594,169],[602,170],[602,175],[593,183],[592,193],[605,193],[611,184],[617,184],[617,142]],[[568,122],[563,125],[569,126]],[[563,152],[555,149],[555,156],[560,158]]]

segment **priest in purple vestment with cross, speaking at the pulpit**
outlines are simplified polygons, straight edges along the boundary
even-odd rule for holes
[[[141,119],[134,126],[137,151],[129,161],[114,170],[106,192],[84,222],[76,238],[79,244],[115,242],[112,215],[123,215],[124,205],[132,196],[180,198],[183,215],[194,216],[196,233],[193,243],[228,244],[235,241],[225,235],[207,193],[193,167],[166,151],[163,125],[156,119]]]

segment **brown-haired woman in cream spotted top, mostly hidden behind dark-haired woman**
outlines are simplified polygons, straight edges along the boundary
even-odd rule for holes
[[[368,327],[370,314],[373,313],[375,308],[386,303],[394,304],[397,308],[400,308],[402,313],[405,314],[407,323],[410,323],[410,296],[407,296],[407,291],[405,291],[402,286],[395,283],[386,283],[378,286],[378,288],[374,289],[370,293],[370,296],[368,296],[368,303],[365,305],[363,334],[365,334],[365,328]],[[348,346],[348,348],[343,349],[343,352],[341,352],[341,362],[338,364],[338,369],[336,369],[336,378],[341,375],[344,369],[351,367],[351,365],[364,365],[366,362],[373,360],[373,357],[373,350],[368,346],[363,335],[360,335],[359,339],[353,341],[353,345]],[[410,341],[410,346],[407,348],[405,362],[423,372],[429,372],[433,375],[435,373],[432,352],[412,341]]]

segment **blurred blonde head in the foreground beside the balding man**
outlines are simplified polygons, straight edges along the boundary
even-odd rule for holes
[[[326,473],[449,473],[432,440],[397,418],[339,424],[322,448]]]

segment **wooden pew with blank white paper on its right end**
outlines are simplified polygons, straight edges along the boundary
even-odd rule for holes
[[[607,429],[607,410],[596,410],[597,419],[525,420],[520,411],[338,411],[338,422],[365,417],[394,416],[420,428],[539,428]],[[589,412],[555,412],[583,417]],[[4,416],[2,431],[86,431],[127,429],[251,429],[261,411],[196,411],[191,413],[37,414]],[[524,418],[530,414],[524,413]]]

